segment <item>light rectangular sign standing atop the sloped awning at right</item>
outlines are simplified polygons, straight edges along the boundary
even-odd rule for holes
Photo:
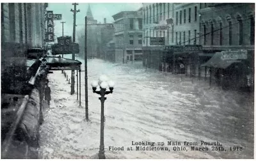
[[[247,50],[221,51],[221,59],[223,60],[247,59]]]

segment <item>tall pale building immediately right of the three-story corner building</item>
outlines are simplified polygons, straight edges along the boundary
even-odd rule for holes
[[[175,44],[175,5],[143,3],[143,66],[158,69],[163,46]]]

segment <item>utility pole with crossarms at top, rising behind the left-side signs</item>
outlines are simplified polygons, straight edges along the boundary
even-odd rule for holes
[[[73,24],[73,43],[76,42],[76,13],[79,12],[80,10],[76,10],[76,5],[78,3],[72,3],[74,5],[74,10],[70,10],[74,14],[74,24]],[[72,60],[75,60],[75,53],[74,50],[72,50]],[[70,94],[73,95],[75,93],[75,70],[71,71],[71,92]]]

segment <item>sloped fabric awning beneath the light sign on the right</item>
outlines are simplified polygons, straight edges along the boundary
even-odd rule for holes
[[[232,65],[233,63],[241,63],[241,60],[239,59],[222,59],[221,52],[216,52],[209,61],[204,63],[201,66],[208,66],[213,68],[227,68],[228,66]]]

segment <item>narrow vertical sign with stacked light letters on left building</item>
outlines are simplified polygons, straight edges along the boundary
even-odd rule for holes
[[[53,13],[47,11],[47,42],[54,42]]]

